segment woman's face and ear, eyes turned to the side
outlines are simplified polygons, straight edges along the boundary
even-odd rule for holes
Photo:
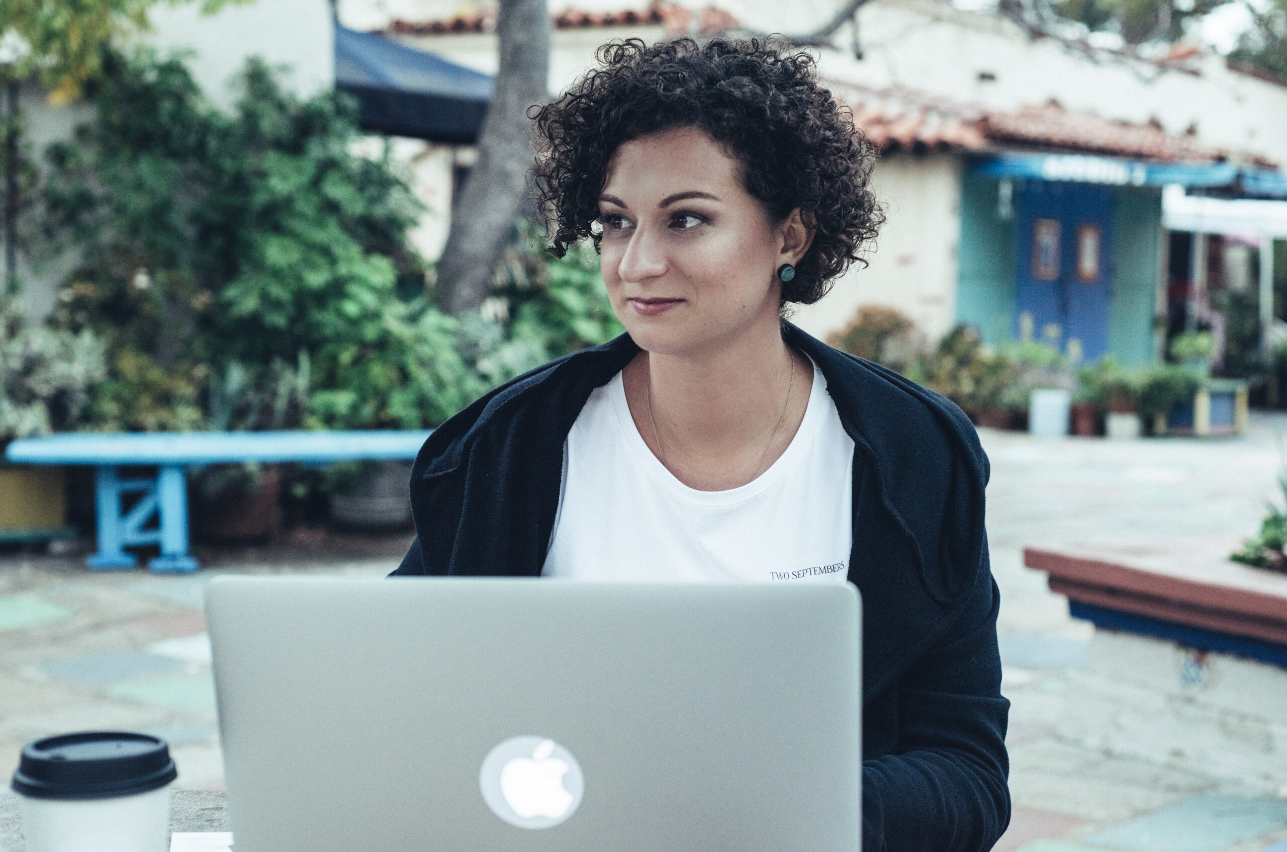
[[[810,234],[770,220],[737,162],[704,131],[669,130],[616,149],[598,197],[613,310],[641,347],[698,354],[748,332],[777,335],[781,264]]]

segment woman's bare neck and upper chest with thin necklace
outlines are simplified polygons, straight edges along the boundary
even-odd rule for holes
[[[790,445],[812,369],[772,331],[696,353],[640,353],[623,371],[634,425],[653,453],[699,490],[745,485]],[[775,431],[776,430],[776,431]]]

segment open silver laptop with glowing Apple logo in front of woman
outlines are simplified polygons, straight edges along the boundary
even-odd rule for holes
[[[210,583],[237,852],[856,852],[849,584]]]

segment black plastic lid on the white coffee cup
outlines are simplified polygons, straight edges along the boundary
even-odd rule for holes
[[[22,746],[13,792],[37,799],[109,799],[156,790],[176,777],[165,740],[85,731]]]

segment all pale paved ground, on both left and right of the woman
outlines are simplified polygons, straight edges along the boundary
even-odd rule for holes
[[[1287,671],[1071,619],[1024,546],[1230,551],[1287,457],[1287,416],[1227,440],[1037,440],[981,431],[1013,701],[1001,852],[1287,852]],[[378,577],[408,537],[296,533],[205,553],[193,577],[90,574],[0,556],[0,773],[23,743],[84,728],[165,736],[179,786],[223,785],[205,584],[219,571]]]

